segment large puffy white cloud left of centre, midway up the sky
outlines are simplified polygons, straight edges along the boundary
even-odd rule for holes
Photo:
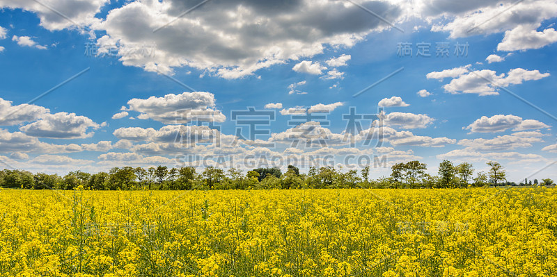
[[[153,119],[164,124],[186,124],[190,121],[223,122],[226,116],[214,109],[214,94],[209,92],[183,92],[150,96],[148,99],[127,101],[128,111],[141,112],[137,118]]]

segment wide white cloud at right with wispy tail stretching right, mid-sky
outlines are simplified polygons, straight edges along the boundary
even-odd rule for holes
[[[473,93],[480,96],[499,95],[498,87],[521,84],[523,81],[540,80],[549,76],[549,73],[540,73],[538,70],[521,68],[510,69],[507,76],[504,73],[497,75],[489,69],[477,70],[454,78],[444,85],[446,92],[451,94]]]

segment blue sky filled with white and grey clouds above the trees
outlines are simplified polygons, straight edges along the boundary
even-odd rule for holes
[[[557,157],[555,1],[212,0],[180,16],[199,2],[0,0],[3,167],[246,170],[311,157],[346,170],[385,157],[432,174],[443,159],[476,171],[497,160],[510,181],[557,178],[555,165],[537,173]],[[251,140],[233,120],[249,107],[274,113],[256,127],[270,135]],[[373,117],[355,133],[352,107]],[[308,114],[329,124],[288,123]]]

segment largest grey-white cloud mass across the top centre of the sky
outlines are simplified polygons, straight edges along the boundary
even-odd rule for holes
[[[361,5],[387,20],[402,11],[381,1]],[[173,21],[191,6],[194,3],[176,0],[125,3],[93,28],[118,41],[120,50],[127,44],[157,45],[154,57],[119,51],[125,65],[165,73],[187,66],[223,78],[242,78],[288,60],[311,58],[329,46],[352,47],[368,33],[390,28],[358,6],[338,1],[208,1]],[[168,22],[172,23],[164,25]]]

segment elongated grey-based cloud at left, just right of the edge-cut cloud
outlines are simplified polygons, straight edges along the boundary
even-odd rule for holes
[[[97,129],[100,125],[88,117],[58,112],[54,115],[43,115],[38,121],[19,127],[19,130],[33,137],[72,139],[91,137],[93,132],[86,133],[88,128]]]

